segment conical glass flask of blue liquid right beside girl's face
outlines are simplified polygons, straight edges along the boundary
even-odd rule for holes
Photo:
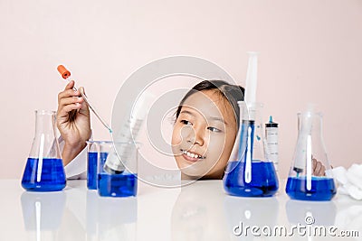
[[[224,190],[241,197],[270,197],[279,188],[273,162],[267,160],[262,104],[239,101],[240,126],[224,174]]]

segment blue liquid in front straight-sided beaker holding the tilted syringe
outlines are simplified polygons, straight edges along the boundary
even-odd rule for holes
[[[137,195],[137,175],[98,174],[98,193],[103,197],[129,197]]]

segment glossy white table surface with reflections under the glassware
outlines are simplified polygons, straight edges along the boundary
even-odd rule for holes
[[[29,192],[19,180],[0,180],[0,240],[281,240],[262,234],[266,227],[314,226],[358,231],[362,240],[362,201],[337,195],[328,202],[291,200],[285,182],[273,198],[238,198],[224,192],[222,181],[196,181],[178,189],[162,189],[138,181],[137,198],[101,198],[87,190],[86,181],[68,181],[58,192]],[[236,226],[260,227],[235,236]],[[263,228],[263,229],[262,229]],[[240,229],[235,229],[236,231]],[[330,240],[303,236],[293,240]],[[303,231],[304,230],[304,231]],[[351,232],[350,232],[351,233]],[[345,233],[346,234],[346,233]],[[333,237],[333,240],[342,239]]]

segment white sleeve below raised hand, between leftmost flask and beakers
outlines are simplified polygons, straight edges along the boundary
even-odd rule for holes
[[[64,140],[62,136],[58,140],[62,152]],[[87,147],[64,167],[64,171],[67,179],[87,179]]]

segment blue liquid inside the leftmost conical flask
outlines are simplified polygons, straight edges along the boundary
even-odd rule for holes
[[[39,168],[42,170],[38,171]],[[43,166],[40,167],[38,158],[28,158],[22,180],[24,190],[62,190],[65,184],[62,159],[43,158]]]

